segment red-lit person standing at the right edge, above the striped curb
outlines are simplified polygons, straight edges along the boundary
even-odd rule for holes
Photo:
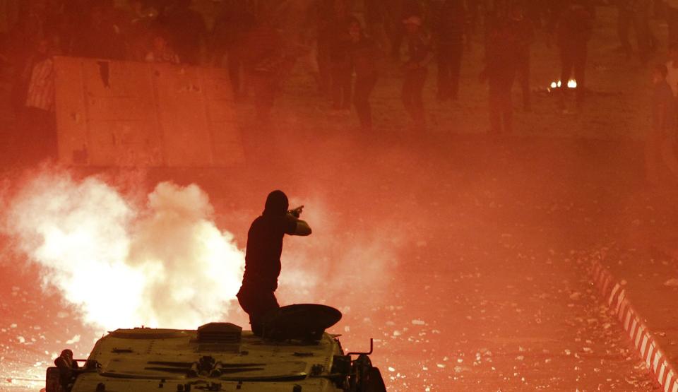
[[[652,129],[645,145],[646,179],[650,185],[660,184],[660,167],[670,170],[678,179],[678,160],[673,143],[678,125],[676,99],[666,81],[668,74],[664,64],[655,66],[652,74]]]

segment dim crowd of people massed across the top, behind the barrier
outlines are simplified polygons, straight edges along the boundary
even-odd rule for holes
[[[588,41],[597,6],[616,6],[619,52],[646,64],[660,46],[650,20],[664,18],[678,42],[677,0],[221,0],[209,15],[191,0],[25,0],[5,37],[15,72],[12,102],[25,129],[53,122],[52,56],[92,57],[227,68],[234,100],[266,119],[292,66],[304,66],[333,114],[354,111],[372,126],[370,97],[384,64],[401,65],[403,109],[425,129],[424,85],[437,100],[458,100],[460,69],[472,42],[489,86],[489,131],[510,133],[513,86],[530,111],[530,46],[545,37],[561,62],[560,90],[576,80],[585,100]],[[661,42],[661,44],[665,44]],[[672,64],[672,63],[671,63]],[[430,75],[432,71],[437,75]],[[667,70],[672,78],[676,71]],[[678,82],[678,81],[674,81]],[[480,88],[480,86],[479,86]],[[677,90],[671,85],[674,95]],[[564,101],[569,94],[561,93]],[[36,132],[39,138],[49,138]]]

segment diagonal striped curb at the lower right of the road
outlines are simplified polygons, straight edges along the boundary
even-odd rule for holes
[[[607,306],[622,323],[624,331],[636,346],[638,354],[645,361],[650,373],[664,392],[678,392],[678,373],[667,360],[664,351],[648,330],[638,311],[626,297],[626,290],[599,261],[594,261],[590,271],[593,284],[605,299]]]

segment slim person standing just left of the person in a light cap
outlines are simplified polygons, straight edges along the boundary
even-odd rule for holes
[[[374,90],[374,85],[379,78],[376,67],[377,48],[374,41],[365,37],[357,20],[351,23],[348,32],[351,37],[351,63],[355,72],[353,105],[362,129],[369,130],[372,127],[372,109],[369,105],[369,95]]]

